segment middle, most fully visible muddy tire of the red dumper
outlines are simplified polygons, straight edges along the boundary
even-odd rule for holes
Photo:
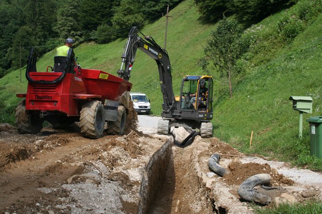
[[[81,106],[80,135],[98,139],[102,136],[105,125],[105,110],[102,103],[92,100]]]

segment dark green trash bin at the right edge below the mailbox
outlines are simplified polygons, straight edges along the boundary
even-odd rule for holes
[[[322,116],[311,117],[306,121],[310,123],[311,155],[322,159]]]

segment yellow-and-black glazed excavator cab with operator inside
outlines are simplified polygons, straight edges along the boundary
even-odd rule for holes
[[[176,100],[181,110],[212,112],[212,77],[185,76],[181,84],[181,97]]]

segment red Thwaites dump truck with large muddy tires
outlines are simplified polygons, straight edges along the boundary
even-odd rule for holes
[[[110,73],[75,66],[70,49],[67,57],[55,56],[54,67],[37,71],[36,53],[31,48],[26,68],[28,88],[16,108],[20,133],[40,132],[44,121],[54,127],[80,122],[80,134],[100,138],[103,131],[121,135],[129,108],[132,84]],[[48,71],[49,70],[49,71]]]

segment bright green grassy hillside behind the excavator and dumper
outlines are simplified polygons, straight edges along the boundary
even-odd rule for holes
[[[251,26],[245,34],[254,36],[255,42],[243,55],[235,76],[233,98],[226,86],[216,82],[214,91],[214,136],[241,149],[245,153],[259,153],[281,160],[296,160],[298,165],[322,170],[322,161],[309,156],[309,125],[303,124],[303,138],[298,139],[298,112],[292,110],[291,95],[311,96],[313,114],[304,119],[321,115],[322,77],[322,15],[301,26],[294,40],[283,40],[277,31],[278,23],[287,14],[297,14],[308,4],[301,0],[292,8],[274,14]],[[302,5],[302,6],[301,6]],[[193,0],[186,0],[170,12],[167,51],[172,65],[173,86],[178,94],[181,78],[186,74],[201,74],[197,60],[203,55],[211,30],[216,24],[206,24],[200,18]],[[294,15],[296,16],[296,15]],[[164,44],[165,19],[147,25],[141,31]],[[129,29],[130,30],[130,29]],[[116,74],[121,66],[121,54],[126,38],[98,45],[85,43],[75,49],[82,68],[101,69]],[[38,71],[53,64],[55,51],[45,54],[38,62]],[[0,79],[0,121],[13,123],[12,113],[19,99],[17,92],[26,91],[22,70],[13,71]],[[152,112],[161,113],[161,92],[158,68],[153,59],[138,51],[130,81],[132,91],[144,92],[151,99]],[[216,74],[214,73],[215,81]],[[250,133],[254,131],[252,147]]]

